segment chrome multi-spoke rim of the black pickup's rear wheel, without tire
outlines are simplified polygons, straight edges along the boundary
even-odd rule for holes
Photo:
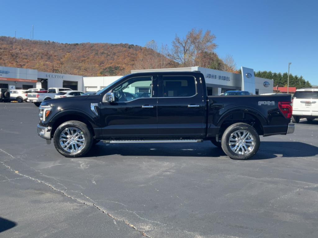
[[[246,155],[254,148],[254,138],[246,130],[237,130],[231,134],[229,146],[234,153]]]

